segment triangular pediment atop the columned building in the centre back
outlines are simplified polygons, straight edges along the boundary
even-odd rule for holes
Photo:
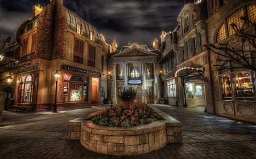
[[[141,48],[129,48],[113,55],[112,57],[145,56],[145,55],[158,55],[158,54],[141,49]]]

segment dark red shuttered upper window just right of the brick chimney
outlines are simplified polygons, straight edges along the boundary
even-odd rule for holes
[[[75,38],[74,62],[82,63],[84,55],[84,41]]]

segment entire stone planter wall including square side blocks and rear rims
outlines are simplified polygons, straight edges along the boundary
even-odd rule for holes
[[[67,122],[67,139],[80,140],[90,151],[117,156],[143,154],[160,149],[168,143],[182,143],[182,124],[170,115],[152,107],[165,121],[134,127],[105,127],[86,119],[96,111]]]

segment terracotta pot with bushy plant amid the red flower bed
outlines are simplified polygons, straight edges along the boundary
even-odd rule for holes
[[[123,108],[129,109],[130,105],[133,104],[133,100],[136,98],[136,91],[134,88],[123,88],[122,91],[119,91],[118,97],[123,102]]]

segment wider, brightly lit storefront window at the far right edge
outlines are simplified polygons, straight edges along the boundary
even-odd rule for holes
[[[237,100],[254,100],[251,71],[242,71],[234,74],[234,87]]]

